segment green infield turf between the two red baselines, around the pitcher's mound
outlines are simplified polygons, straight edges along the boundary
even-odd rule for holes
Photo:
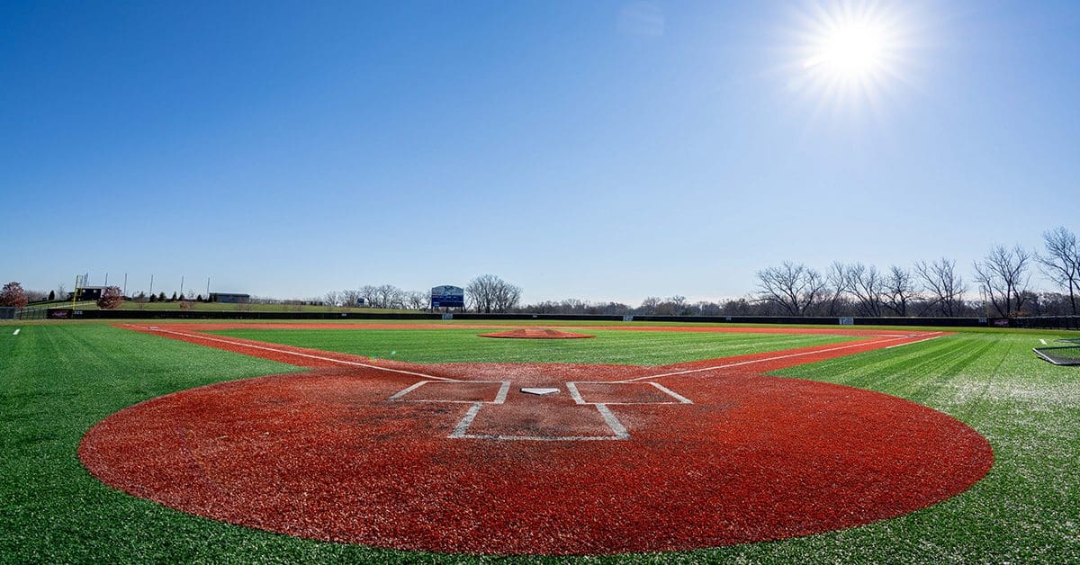
[[[855,339],[834,335],[590,331],[593,339],[491,339],[477,329],[226,329],[216,335],[414,363],[666,365]]]

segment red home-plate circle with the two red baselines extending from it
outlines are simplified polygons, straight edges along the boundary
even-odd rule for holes
[[[940,412],[760,374],[926,334],[627,367],[376,365],[191,328],[139,329],[319,368],[131,406],[91,429],[79,457],[135,496],[294,536],[491,554],[686,550],[903,515],[993,462],[983,436]]]

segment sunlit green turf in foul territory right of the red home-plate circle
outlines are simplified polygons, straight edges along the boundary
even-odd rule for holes
[[[777,373],[917,401],[972,426],[995,449],[990,473],[969,492],[907,516],[819,536],[843,544],[819,546],[815,561],[850,560],[852,547],[878,555],[869,561],[1080,560],[1080,374],[1042,362],[1028,344],[1023,335],[966,334]],[[770,561],[784,553],[754,547],[723,554]]]

